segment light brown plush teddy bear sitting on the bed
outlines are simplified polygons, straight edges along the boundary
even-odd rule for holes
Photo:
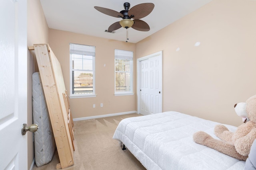
[[[248,98],[245,103],[236,104],[234,107],[238,115],[247,117],[246,123],[238,126],[235,132],[231,132],[226,126],[219,124],[214,127],[214,134],[220,140],[214,139],[203,131],[194,133],[193,140],[238,160],[246,160],[252,143],[256,139],[256,95]]]

